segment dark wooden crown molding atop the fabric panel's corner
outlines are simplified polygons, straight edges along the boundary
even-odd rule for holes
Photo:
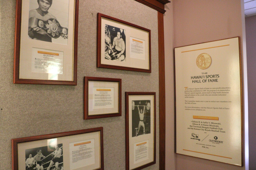
[[[147,5],[158,12],[165,13],[165,4],[169,3],[169,0],[135,0],[140,3],[143,3],[144,5]]]

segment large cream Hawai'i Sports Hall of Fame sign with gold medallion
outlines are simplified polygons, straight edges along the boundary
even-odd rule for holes
[[[240,38],[175,48],[176,153],[242,166]]]

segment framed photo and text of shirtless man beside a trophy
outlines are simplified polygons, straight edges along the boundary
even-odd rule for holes
[[[98,13],[97,67],[151,73],[151,31]]]

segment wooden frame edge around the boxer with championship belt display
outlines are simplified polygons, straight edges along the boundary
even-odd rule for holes
[[[39,80],[39,79],[20,79],[20,36],[21,36],[21,11],[22,0],[16,0],[16,20],[15,20],[15,43],[14,43],[14,84],[52,84],[52,85],[77,85],[77,40],[78,40],[78,10],[79,0],[75,0],[74,16],[74,44],[73,44],[73,81],[65,80]]]

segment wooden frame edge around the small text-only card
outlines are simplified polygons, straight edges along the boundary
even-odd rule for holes
[[[102,81],[102,82],[118,82],[119,85],[119,113],[112,113],[112,114],[98,114],[98,115],[88,115],[88,81]],[[99,119],[105,117],[117,117],[122,116],[122,79],[115,79],[115,78],[105,78],[105,77],[84,77],[84,120],[87,119]]]

